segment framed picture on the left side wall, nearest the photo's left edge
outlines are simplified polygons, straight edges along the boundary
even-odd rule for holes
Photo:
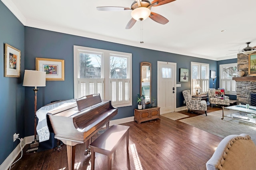
[[[5,44],[4,77],[20,77],[20,50]]]

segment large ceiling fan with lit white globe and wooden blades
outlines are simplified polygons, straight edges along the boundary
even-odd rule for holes
[[[99,11],[126,11],[131,10],[132,13],[132,19],[128,22],[125,29],[130,29],[136,21],[142,21],[146,20],[146,18],[151,18],[155,22],[158,22],[160,24],[166,24],[169,22],[168,19],[161,16],[160,14],[156,14],[154,12],[151,12],[151,8],[154,6],[160,6],[164,4],[168,4],[170,2],[173,2],[175,0],[153,0],[152,2],[149,2],[148,0],[135,0],[131,8],[127,7],[119,7],[119,6],[100,6],[97,7],[97,10]]]

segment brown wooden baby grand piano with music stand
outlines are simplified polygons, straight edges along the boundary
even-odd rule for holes
[[[86,142],[88,149],[88,140],[104,125],[108,128],[116,114],[117,108],[111,101],[101,100],[100,95],[88,95],[73,105],[47,113],[47,124],[54,138],[67,146],[69,170],[74,170],[76,144]]]

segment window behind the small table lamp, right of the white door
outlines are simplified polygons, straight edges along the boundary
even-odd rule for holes
[[[196,84],[200,85],[200,93],[208,93],[209,88],[209,64],[191,62],[191,92],[196,95]]]

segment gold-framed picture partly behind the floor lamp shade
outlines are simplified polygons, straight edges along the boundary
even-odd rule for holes
[[[64,59],[36,58],[36,70],[45,71],[48,81],[64,81]]]

